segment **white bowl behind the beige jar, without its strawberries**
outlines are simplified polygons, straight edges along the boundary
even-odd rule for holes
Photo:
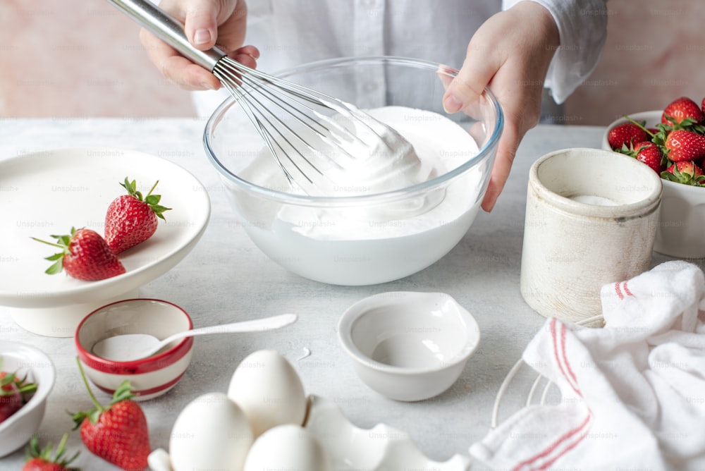
[[[630,114],[636,121],[646,121],[646,127],[654,127],[661,122],[663,111],[642,111]],[[602,137],[602,148],[611,150],[607,140],[609,130],[620,123],[625,123],[625,118],[610,123]],[[702,228],[705,227],[705,188],[691,185],[682,185],[665,179],[663,183],[663,197],[658,216],[658,227],[654,239],[654,250],[678,258],[705,257],[705,238]]]

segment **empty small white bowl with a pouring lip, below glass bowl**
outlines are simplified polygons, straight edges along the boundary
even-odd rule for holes
[[[393,291],[348,308],[338,338],[364,384],[388,398],[415,401],[455,383],[480,331],[447,294]]]

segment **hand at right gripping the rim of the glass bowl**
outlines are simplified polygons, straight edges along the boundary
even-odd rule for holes
[[[551,13],[532,1],[522,1],[479,27],[467,46],[460,73],[443,96],[446,111],[455,113],[489,87],[502,106],[504,130],[482,200],[486,212],[492,210],[509,178],[522,137],[539,123],[546,72],[559,44]]]

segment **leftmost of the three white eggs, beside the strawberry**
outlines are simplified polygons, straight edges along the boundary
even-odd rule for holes
[[[192,400],[176,417],[169,437],[174,471],[240,471],[255,440],[245,413],[223,393]]]

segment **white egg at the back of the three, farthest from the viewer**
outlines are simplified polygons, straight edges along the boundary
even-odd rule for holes
[[[282,424],[303,424],[306,394],[294,367],[274,350],[258,350],[235,369],[228,398],[240,405],[255,437]]]

